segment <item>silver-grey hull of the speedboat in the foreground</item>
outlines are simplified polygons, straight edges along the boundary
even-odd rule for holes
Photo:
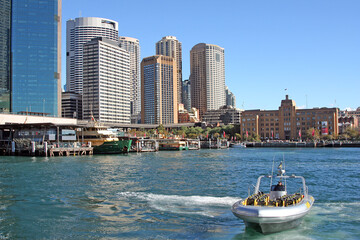
[[[238,201],[232,206],[232,212],[242,219],[247,227],[253,227],[267,234],[299,226],[313,203],[312,196],[288,207],[244,206],[242,201]]]

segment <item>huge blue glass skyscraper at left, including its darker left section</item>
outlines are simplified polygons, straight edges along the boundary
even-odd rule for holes
[[[61,0],[1,0],[0,18],[0,111],[60,116]]]

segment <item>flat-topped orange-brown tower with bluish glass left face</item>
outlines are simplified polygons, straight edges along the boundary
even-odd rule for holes
[[[178,122],[177,67],[172,57],[156,55],[141,62],[141,122]]]

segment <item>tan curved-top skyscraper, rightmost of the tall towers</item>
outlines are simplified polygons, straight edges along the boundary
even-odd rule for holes
[[[191,104],[200,118],[226,104],[224,49],[199,43],[190,51]]]

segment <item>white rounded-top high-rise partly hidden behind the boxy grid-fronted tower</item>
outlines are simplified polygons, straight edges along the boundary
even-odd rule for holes
[[[83,91],[83,46],[95,37],[118,41],[118,23],[97,17],[81,17],[66,22],[66,91]]]

